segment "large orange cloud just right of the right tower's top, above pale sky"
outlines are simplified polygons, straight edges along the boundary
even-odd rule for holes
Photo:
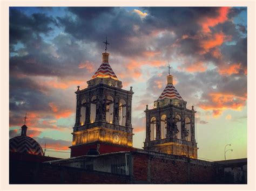
[[[232,94],[210,93],[209,103],[200,103],[199,107],[204,110],[212,110],[214,117],[219,117],[224,110],[232,109],[241,111],[245,106],[247,97],[235,96]]]

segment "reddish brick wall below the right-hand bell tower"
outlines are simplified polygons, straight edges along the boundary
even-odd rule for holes
[[[133,152],[134,183],[215,183],[215,178],[211,162],[191,159],[188,170],[186,157]]]

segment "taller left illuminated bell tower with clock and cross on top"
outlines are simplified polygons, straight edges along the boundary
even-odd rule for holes
[[[102,64],[87,81],[88,87],[81,90],[78,86],[75,92],[76,123],[71,157],[92,150],[102,154],[132,148],[132,87],[129,91],[122,89],[122,82],[109,65],[106,49],[102,57]]]

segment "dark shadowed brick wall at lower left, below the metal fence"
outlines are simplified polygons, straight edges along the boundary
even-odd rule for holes
[[[123,184],[130,183],[129,176],[83,171],[39,162],[10,161],[10,184]]]

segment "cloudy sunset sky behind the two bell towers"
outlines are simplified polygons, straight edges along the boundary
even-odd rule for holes
[[[145,140],[146,104],[166,86],[168,62],[194,105],[199,159],[247,157],[247,9],[241,7],[10,8],[10,138],[70,156],[77,86],[87,87],[110,43],[110,66],[133,87],[133,146]]]

